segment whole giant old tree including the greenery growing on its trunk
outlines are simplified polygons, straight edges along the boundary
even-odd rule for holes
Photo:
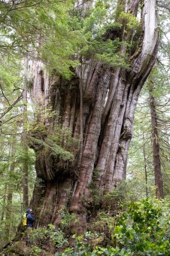
[[[90,1],[75,5],[84,23],[91,14],[94,17],[90,8]],[[137,15],[138,29],[130,25]],[[88,214],[95,212],[93,194],[99,197],[96,207],[102,207],[102,196],[126,178],[135,105],[156,59],[156,1],[119,0],[111,17],[99,35],[93,32],[97,24],[89,26],[89,48],[76,54],[80,65],[71,68],[70,79],[57,69],[48,75],[41,62],[33,64],[31,96],[40,109],[39,128],[33,130],[30,143],[36,152],[38,182],[32,206],[37,227],[57,226],[62,209],[68,209],[80,219],[79,229],[86,228]],[[91,50],[94,40],[97,46]],[[117,42],[116,50],[108,52]],[[127,66],[121,63],[123,56]],[[53,114],[44,117],[44,109]]]

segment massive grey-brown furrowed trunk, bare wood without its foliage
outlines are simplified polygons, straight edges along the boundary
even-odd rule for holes
[[[126,12],[137,15],[138,0],[127,5],[120,3]],[[35,133],[35,136],[47,139],[49,134],[57,133],[60,124],[60,145],[74,154],[74,160],[62,160],[49,150],[45,151],[44,146],[33,145],[36,171],[41,179],[35,185],[32,199],[37,227],[49,223],[57,226],[61,209],[68,209],[80,218],[80,230],[85,229],[87,212],[93,211],[93,192],[101,198],[102,207],[102,196],[126,178],[135,105],[156,59],[155,0],[144,0],[141,23],[141,35],[135,39],[136,49],[128,53],[129,69],[111,68],[86,59],[77,67],[71,81],[65,81],[55,75],[49,78],[42,64],[35,62],[32,100],[43,108],[51,106],[56,111],[54,117],[44,119],[47,133],[43,136]],[[123,32],[121,34],[125,40]],[[122,47],[121,52],[125,51]],[[68,129],[72,138],[79,139],[72,146],[65,135]]]

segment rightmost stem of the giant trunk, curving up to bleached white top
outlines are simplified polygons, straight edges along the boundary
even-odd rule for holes
[[[122,73],[119,79],[117,95],[114,97],[112,110],[108,117],[107,130],[96,166],[99,175],[96,188],[100,187],[105,190],[105,193],[108,193],[117,181],[121,181],[126,176],[126,158],[132,138],[135,105],[141,87],[155,62],[158,40],[156,3],[144,2],[142,13],[144,43],[141,53],[132,61],[130,71]],[[153,25],[151,28],[148,27],[149,22]]]

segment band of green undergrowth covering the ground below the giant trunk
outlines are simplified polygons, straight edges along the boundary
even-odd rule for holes
[[[47,247],[53,248],[55,256],[170,254],[170,214],[166,200],[144,198],[129,202],[116,215],[111,210],[99,212],[80,236],[68,233],[71,221],[77,221],[75,216],[63,211],[59,229],[49,224],[47,228],[33,230],[29,238],[32,255],[41,254]]]

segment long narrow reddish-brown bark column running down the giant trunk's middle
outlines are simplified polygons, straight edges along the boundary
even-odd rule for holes
[[[79,181],[71,203],[71,211],[80,212],[80,196],[90,184],[93,175],[94,163],[96,160],[97,142],[99,139],[100,120],[102,118],[102,109],[105,104],[105,94],[107,92],[108,81],[110,80],[110,72],[106,71],[102,78],[98,77],[98,87],[96,88],[96,103],[93,106],[93,113],[87,130],[86,145],[83,150]]]

